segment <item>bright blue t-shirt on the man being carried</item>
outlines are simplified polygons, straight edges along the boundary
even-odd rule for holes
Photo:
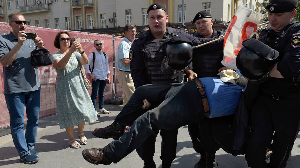
[[[224,83],[220,78],[200,78],[200,80],[204,84],[210,106],[209,118],[231,115],[235,112],[244,89],[242,86]]]

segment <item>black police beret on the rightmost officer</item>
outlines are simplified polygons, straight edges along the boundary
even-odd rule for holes
[[[297,6],[297,0],[271,0],[266,9],[271,13],[283,13],[293,11]]]

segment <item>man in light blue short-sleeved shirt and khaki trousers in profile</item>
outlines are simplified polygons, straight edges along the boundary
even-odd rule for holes
[[[124,103],[125,106],[130,99],[131,95],[135,91],[135,85],[131,78],[130,73],[130,60],[129,60],[129,51],[133,40],[135,40],[136,28],[133,24],[126,24],[124,27],[125,37],[121,41],[117,50],[117,68],[119,69],[117,74],[117,79],[122,86],[124,94]]]

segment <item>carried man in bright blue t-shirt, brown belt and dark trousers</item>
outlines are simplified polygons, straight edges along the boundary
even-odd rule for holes
[[[200,80],[203,85],[197,84]],[[136,120],[133,117],[126,118],[124,122],[127,123],[122,124],[133,122],[128,132],[104,148],[83,150],[83,157],[92,164],[117,163],[139,147],[148,137],[156,136],[160,129],[171,130],[202,121],[205,118],[205,105],[203,105],[205,98],[201,96],[200,89],[202,88],[198,86],[205,87],[210,108],[209,116],[221,116],[220,111],[226,112],[222,116],[230,115],[235,111],[243,87],[224,83],[220,78],[200,78],[200,80],[195,79],[187,83],[148,84],[138,87],[119,115],[136,113],[136,111],[143,115],[137,116]],[[151,104],[159,105],[148,111]],[[214,107],[215,105],[217,107]]]

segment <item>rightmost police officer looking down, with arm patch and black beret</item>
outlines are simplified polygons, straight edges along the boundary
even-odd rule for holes
[[[262,82],[257,84],[257,92],[251,92],[255,101],[250,105],[251,132],[245,158],[252,168],[285,167],[300,129],[300,23],[294,19],[297,5],[297,0],[271,0],[266,6],[271,27],[263,29],[258,40],[277,50],[279,56],[270,73],[256,80]],[[267,146],[273,150],[269,164],[265,162]]]

